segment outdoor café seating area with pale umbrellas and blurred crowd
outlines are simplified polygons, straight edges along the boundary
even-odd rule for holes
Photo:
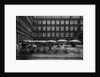
[[[69,41],[67,40],[32,40],[32,41],[23,41],[22,43],[18,43],[16,54],[17,56],[35,56],[37,57],[45,57],[45,55],[59,55],[59,56],[83,56],[83,45],[80,45],[79,41]],[[44,55],[44,56],[43,56]],[[72,55],[72,56],[71,56]],[[52,57],[51,56],[51,57]],[[63,56],[64,57],[64,56]]]

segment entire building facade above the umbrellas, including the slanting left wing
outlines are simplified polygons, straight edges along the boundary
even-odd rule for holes
[[[17,16],[16,39],[83,41],[83,16]]]

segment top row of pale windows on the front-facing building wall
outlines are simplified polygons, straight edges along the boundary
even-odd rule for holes
[[[78,21],[78,20],[34,20],[34,22],[36,23],[36,24],[43,24],[43,25],[59,25],[59,24],[61,24],[61,25],[64,25],[64,24],[66,24],[66,25],[77,25],[77,24],[83,24],[83,20],[80,20],[80,21]]]

